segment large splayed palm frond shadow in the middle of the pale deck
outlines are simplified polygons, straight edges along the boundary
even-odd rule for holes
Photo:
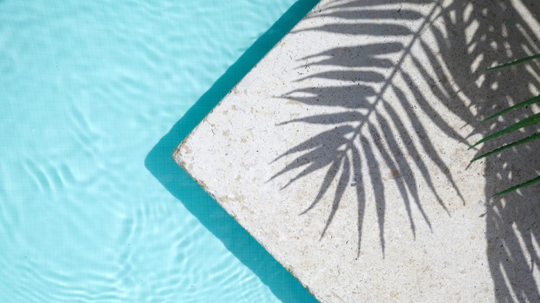
[[[363,10],[363,6],[348,6],[353,11],[340,11],[325,9],[323,17],[334,17],[342,19],[384,19],[396,18],[401,12],[390,10]],[[330,11],[330,12],[328,12]],[[402,12],[406,19],[420,19],[420,12],[407,10]],[[320,17],[320,16],[317,16]],[[427,22],[422,24],[426,26]],[[317,86],[296,89],[282,95],[281,98],[295,100],[303,104],[314,106],[325,106],[342,109],[334,113],[321,114],[317,116],[307,116],[283,122],[289,123],[310,123],[317,125],[328,125],[330,128],[321,134],[310,138],[304,143],[289,149],[276,160],[282,157],[296,153],[303,153],[293,160],[284,169],[274,175],[277,178],[287,172],[307,167],[294,178],[291,178],[285,186],[294,183],[299,178],[303,178],[312,172],[329,167],[321,184],[320,190],[307,207],[305,212],[314,208],[327,193],[330,184],[334,178],[339,181],[336,186],[336,193],[332,202],[332,211],[325,223],[321,237],[325,235],[327,228],[332,223],[334,215],[339,208],[343,191],[350,183],[356,187],[358,214],[358,250],[361,248],[361,226],[363,223],[363,213],[366,208],[366,188],[372,188],[372,194],[375,197],[377,208],[377,219],[379,222],[379,238],[381,241],[381,250],[384,254],[384,223],[386,211],[386,199],[384,192],[384,183],[382,182],[382,167],[390,169],[390,178],[397,186],[402,196],[404,207],[411,226],[413,237],[416,236],[416,223],[413,217],[412,208],[420,211],[422,221],[431,229],[428,214],[424,211],[418,191],[420,183],[425,183],[441,207],[449,214],[447,206],[438,194],[437,187],[431,177],[429,169],[424,163],[424,155],[435,163],[436,167],[446,176],[447,181],[456,191],[458,196],[465,203],[460,190],[456,186],[453,176],[449,174],[449,169],[442,158],[435,151],[433,145],[427,136],[427,130],[422,122],[417,118],[415,110],[408,104],[405,90],[399,82],[413,82],[413,75],[402,68],[401,64],[411,54],[411,48],[420,39],[419,33],[411,33],[405,26],[396,24],[377,24],[362,22],[361,24],[343,24],[336,23],[318,28],[308,28],[306,30],[327,31],[330,33],[341,33],[343,35],[412,35],[412,41],[408,44],[404,42],[393,41],[379,42],[367,45],[337,47],[325,50],[322,53],[309,55],[302,59],[307,61],[307,66],[330,66],[323,72],[314,73],[308,77],[312,79],[323,78],[327,80],[339,80],[346,84],[336,86]],[[397,64],[392,59],[385,57],[388,55],[398,55]],[[381,71],[381,68],[392,69],[390,73]],[[422,68],[422,66],[420,66]],[[298,81],[303,81],[303,77]],[[393,104],[388,102],[387,94],[395,95],[395,98],[401,102],[402,111],[397,113]],[[438,91],[440,95],[444,91]],[[413,89],[413,96],[416,99],[420,110],[426,112],[436,112],[429,100]],[[404,127],[404,120],[413,125],[415,132],[407,131]],[[466,141],[459,138],[447,122],[438,116],[433,116],[432,121],[447,136],[456,138],[462,143]],[[343,125],[345,124],[345,125]],[[384,163],[376,160],[375,154],[384,159]],[[410,156],[413,161],[406,160]],[[364,163],[364,164],[363,164]],[[362,171],[363,165],[366,166],[367,176]],[[420,172],[420,176],[415,174]],[[354,176],[351,178],[350,176]],[[420,180],[421,179],[421,180]],[[303,213],[305,213],[303,212]]]

